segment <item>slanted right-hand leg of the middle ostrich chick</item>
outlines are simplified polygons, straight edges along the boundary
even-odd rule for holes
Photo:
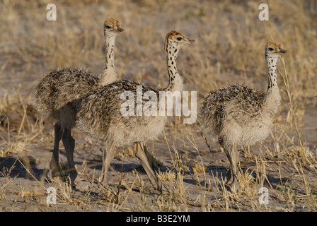
[[[154,186],[154,189],[157,189],[158,191],[162,191],[161,182],[159,182],[159,179],[156,177],[153,170],[151,169],[151,166],[149,165],[149,160],[144,150],[144,143],[143,142],[134,143],[134,152],[135,152],[135,157],[137,157],[137,160],[139,160],[142,167],[144,168],[146,174],[148,175],[150,179],[151,184]]]

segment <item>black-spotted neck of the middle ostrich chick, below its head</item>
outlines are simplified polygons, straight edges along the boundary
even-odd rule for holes
[[[180,78],[180,74],[176,67],[176,58],[178,54],[178,49],[175,47],[166,47],[166,64],[169,76],[167,91],[174,92],[175,90],[183,90],[183,80]]]

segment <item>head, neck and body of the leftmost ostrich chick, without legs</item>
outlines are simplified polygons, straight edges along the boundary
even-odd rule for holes
[[[61,108],[98,88],[99,85],[108,85],[117,79],[113,63],[113,45],[115,37],[123,28],[121,23],[113,18],[105,20],[103,25],[105,44],[111,54],[108,59],[108,54],[105,53],[105,70],[102,76],[98,78],[88,70],[77,68],[65,68],[47,73],[35,88],[35,106],[45,117],[61,120],[65,126],[67,121],[73,118],[68,126],[74,126],[74,112],[67,112],[71,115],[62,115]]]

